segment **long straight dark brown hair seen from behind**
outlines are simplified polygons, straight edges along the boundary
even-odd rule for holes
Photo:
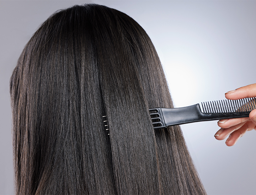
[[[206,193],[180,127],[153,129],[148,109],[173,104],[150,38],[126,14],[54,13],[10,93],[16,194]]]

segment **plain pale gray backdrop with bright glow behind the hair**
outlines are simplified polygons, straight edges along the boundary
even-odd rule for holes
[[[160,56],[176,107],[224,99],[256,83],[256,1],[0,1],[0,194],[13,194],[9,78],[27,41],[53,12],[94,2],[134,18]],[[256,194],[256,132],[235,146],[217,122],[182,125],[208,194]]]

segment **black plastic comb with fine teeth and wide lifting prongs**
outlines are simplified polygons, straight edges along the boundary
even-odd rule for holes
[[[249,117],[255,108],[255,98],[244,98],[202,102],[201,106],[195,104],[181,108],[151,108],[149,113],[154,129],[161,129],[178,124]]]

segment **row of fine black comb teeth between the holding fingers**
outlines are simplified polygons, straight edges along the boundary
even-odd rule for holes
[[[208,101],[202,102],[200,108],[203,113],[251,112],[256,108],[256,99]]]

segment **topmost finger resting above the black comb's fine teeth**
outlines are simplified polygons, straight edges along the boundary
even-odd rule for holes
[[[256,97],[256,83],[240,87],[236,90],[228,91],[225,93],[226,99],[238,100],[242,98],[254,98]]]

